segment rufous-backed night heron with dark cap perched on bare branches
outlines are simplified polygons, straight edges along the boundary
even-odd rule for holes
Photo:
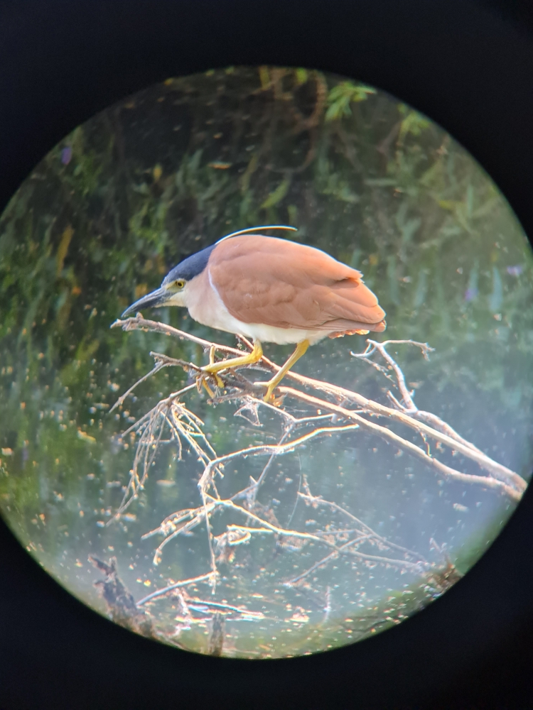
[[[382,332],[387,324],[360,271],[316,247],[261,234],[267,229],[296,231],[266,225],[227,234],[183,259],[160,288],[132,303],[122,317],[149,307],[181,306],[198,323],[251,338],[251,352],[217,362],[212,354],[210,364],[200,368],[219,387],[220,372],[262,358],[262,343],[296,344],[284,366],[262,383],[264,401],[275,403],[274,389],[310,345],[325,337]]]

